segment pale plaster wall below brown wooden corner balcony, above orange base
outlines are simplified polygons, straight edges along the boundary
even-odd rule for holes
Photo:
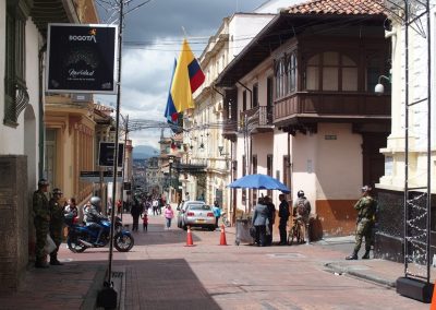
[[[336,140],[326,140],[335,135]],[[292,139],[292,196],[303,190],[316,200],[355,199],[362,187],[362,136],[348,123],[318,123],[315,134]]]

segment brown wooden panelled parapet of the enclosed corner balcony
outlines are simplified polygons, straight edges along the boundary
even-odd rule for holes
[[[317,122],[390,121],[390,95],[368,93],[295,93],[274,106],[276,127]]]

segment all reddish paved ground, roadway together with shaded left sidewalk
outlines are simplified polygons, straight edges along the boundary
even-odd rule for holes
[[[124,215],[124,223],[130,220]],[[229,246],[218,246],[219,230],[194,229],[194,247],[185,247],[186,231],[174,226],[167,230],[162,216],[149,216],[148,231],[133,233],[134,248],[114,251],[113,270],[122,275],[120,309],[428,309],[389,287],[402,275],[402,264],[344,261],[350,239],[341,248],[325,240],[237,247],[231,227]],[[31,267],[16,294],[0,297],[0,309],[93,309],[108,249],[72,253],[62,245],[59,257],[63,266]]]

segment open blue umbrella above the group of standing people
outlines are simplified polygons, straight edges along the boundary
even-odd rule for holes
[[[283,193],[291,192],[282,182],[272,177],[261,174],[244,176],[231,182],[228,187],[233,189],[279,190]]]

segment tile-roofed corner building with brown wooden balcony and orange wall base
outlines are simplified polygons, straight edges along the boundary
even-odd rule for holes
[[[374,93],[390,65],[386,15],[375,1],[352,5],[282,10],[217,82],[238,177],[272,176],[293,198],[304,190],[326,235],[354,231],[353,204],[362,184],[383,175],[379,148],[390,131],[389,92]],[[250,212],[257,194],[238,190],[234,202]],[[278,193],[269,194],[277,204]]]

